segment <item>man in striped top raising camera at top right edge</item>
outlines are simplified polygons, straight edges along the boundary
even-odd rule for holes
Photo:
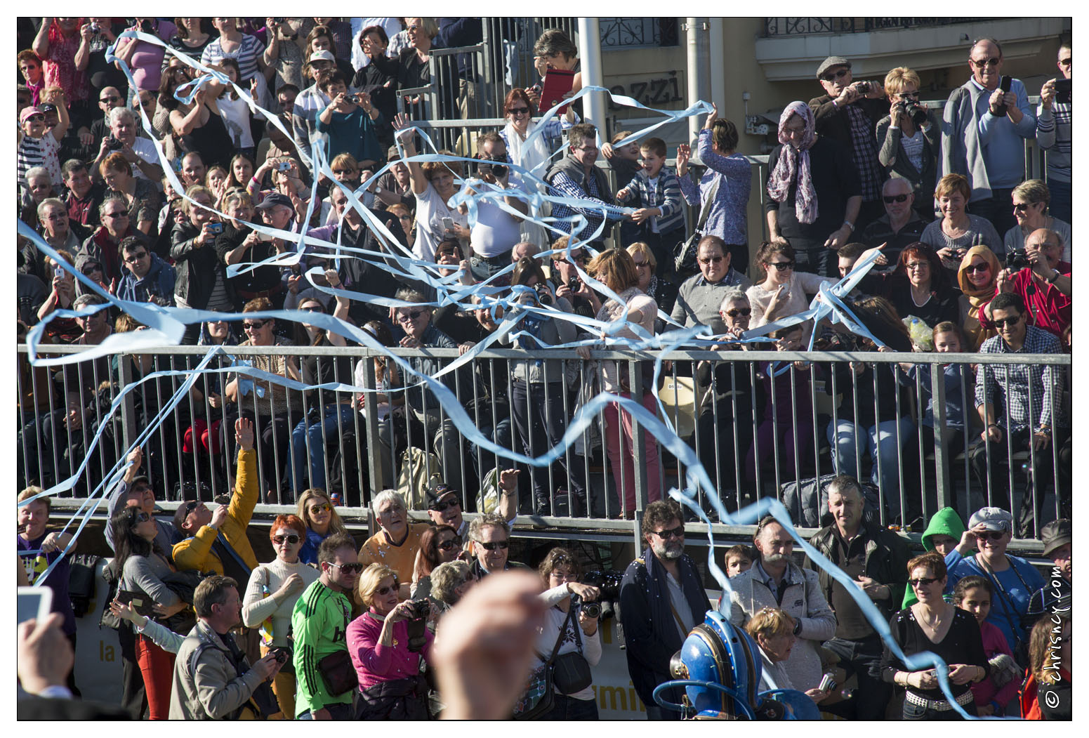
[[[1070,45],[1059,47],[1059,71],[1062,77],[1048,79],[1040,90],[1040,107],[1036,118],[1036,143],[1048,152],[1048,189],[1051,190],[1051,214],[1072,223],[1070,140],[1074,137],[1074,108],[1070,98]]]

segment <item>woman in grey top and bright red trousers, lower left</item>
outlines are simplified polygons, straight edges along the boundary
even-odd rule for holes
[[[113,566],[121,573],[118,592],[135,592],[151,601],[157,619],[182,612],[186,604],[163,579],[174,571],[168,554],[159,549],[155,538],[158,528],[150,515],[139,507],[126,507],[110,520],[113,526]],[[138,631],[137,631],[138,632]],[[144,675],[148,717],[167,719],[170,711],[171,677],[174,655],[139,634],[136,638],[136,663]]]

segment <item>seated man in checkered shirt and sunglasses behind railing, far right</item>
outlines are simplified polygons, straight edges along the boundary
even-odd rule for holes
[[[1056,490],[1063,511],[1060,516],[1069,517],[1070,435],[1059,406],[1063,368],[1026,364],[1019,356],[1014,356],[1061,354],[1062,346],[1051,333],[1026,324],[1025,303],[1019,295],[1000,293],[991,300],[990,310],[999,334],[984,341],[979,352],[1011,356],[1008,364],[981,364],[977,370],[976,409],[987,427],[980,434],[980,441],[968,450],[977,483],[986,493],[990,473],[993,499],[1008,499],[1010,477],[999,468],[999,464],[1008,464],[1012,453],[1030,452],[1036,487],[1035,515],[1039,524],[1043,495],[1053,478],[1052,455],[1057,447]],[[1025,501],[1018,514],[1018,534],[1021,538],[1032,532],[1032,487],[1031,482],[1026,487]]]

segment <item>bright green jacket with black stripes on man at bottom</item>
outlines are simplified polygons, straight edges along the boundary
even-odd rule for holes
[[[333,697],[318,671],[318,662],[338,651],[347,651],[347,626],[352,603],[320,579],[306,588],[291,613],[295,641],[295,717],[329,704],[352,704],[354,690]]]

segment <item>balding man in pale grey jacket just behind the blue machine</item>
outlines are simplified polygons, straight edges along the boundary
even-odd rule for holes
[[[723,596],[719,610],[736,626],[748,623],[763,607],[775,607],[793,617],[797,642],[783,666],[795,689],[812,689],[822,674],[820,644],[835,635],[835,614],[817,573],[791,561],[794,539],[775,518],[761,518],[752,541],[760,561],[730,580],[733,591],[729,599]]]

